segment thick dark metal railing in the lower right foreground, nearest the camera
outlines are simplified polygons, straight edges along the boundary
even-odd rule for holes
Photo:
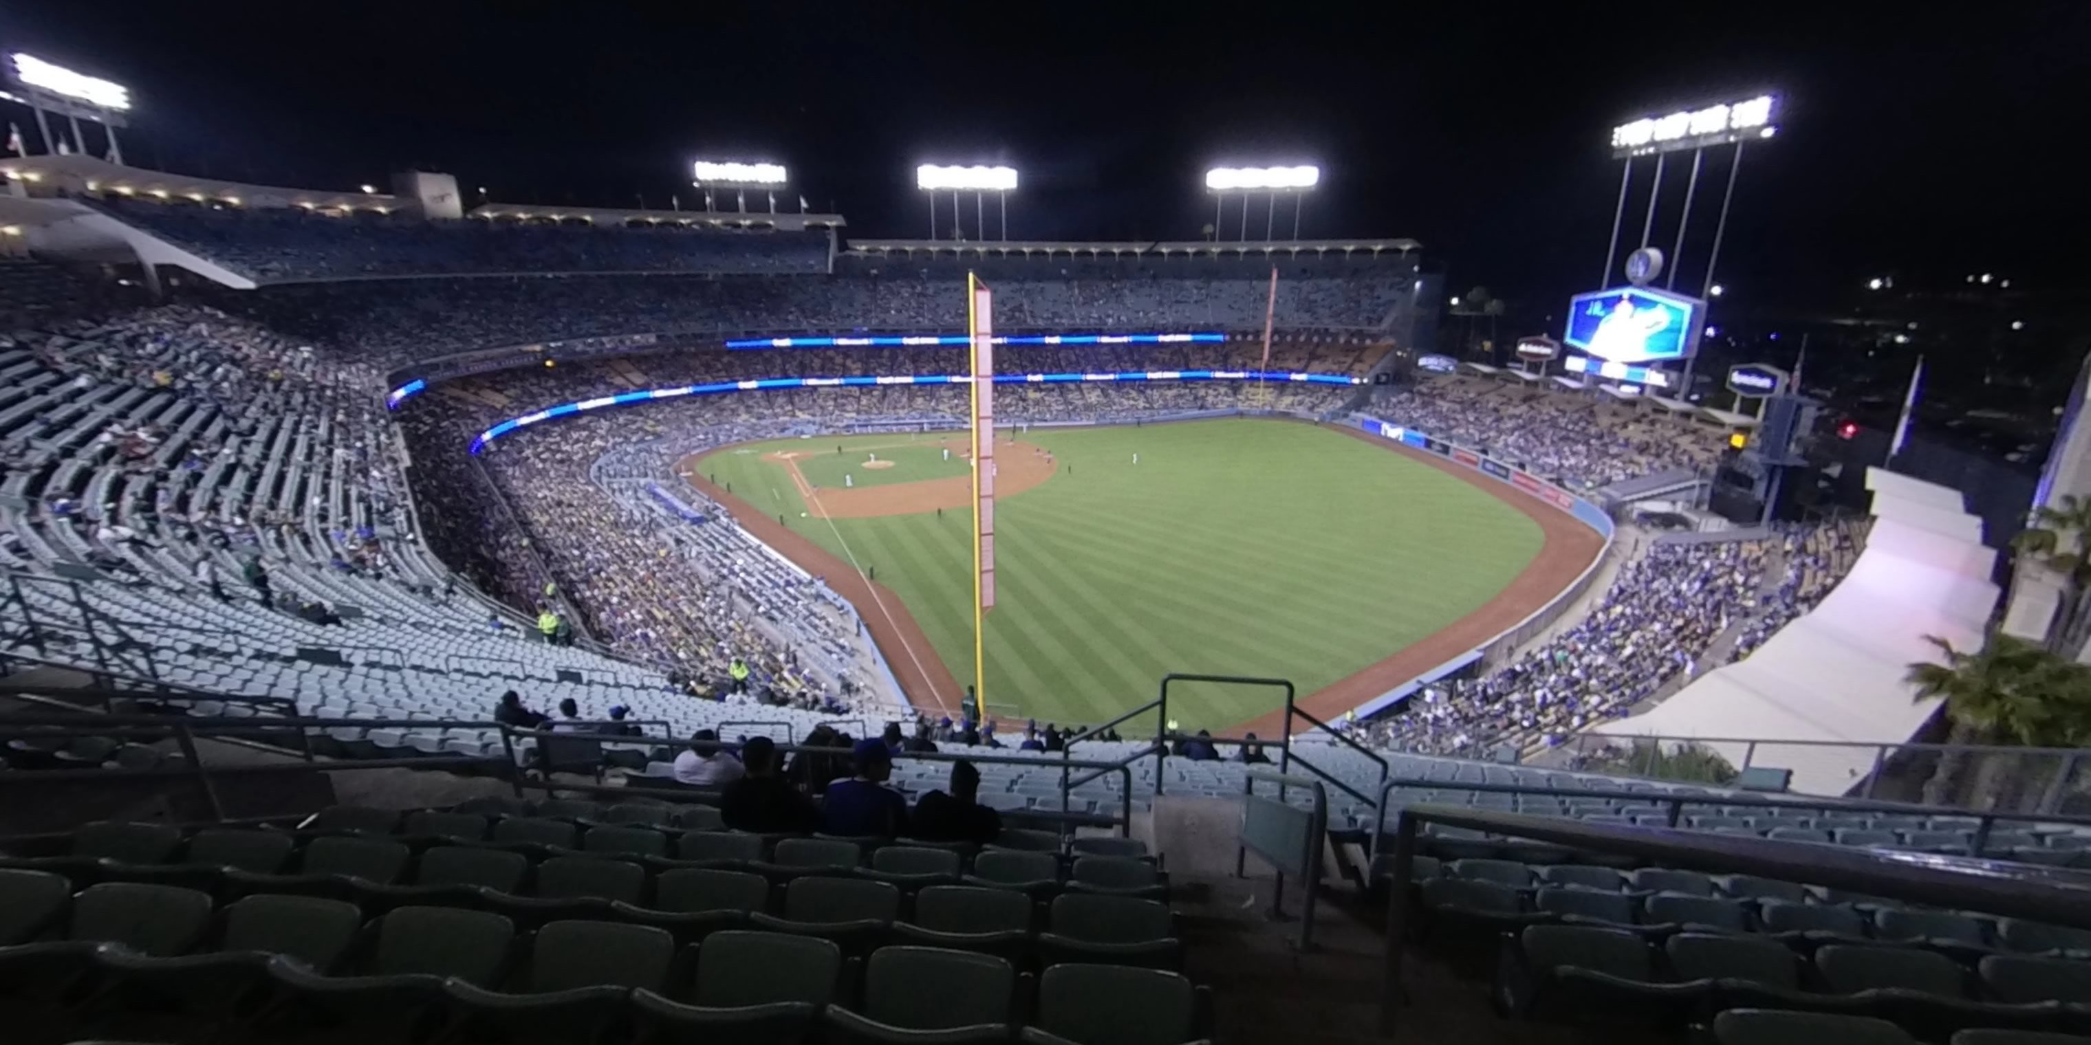
[[[1953,911],[1984,911],[2091,928],[2091,876],[2058,867],[2001,865],[1984,859],[1840,849],[1815,842],[1725,838],[1667,828],[1614,828],[1449,805],[1411,805],[1401,811],[1401,819],[1395,823],[1395,853],[1388,865],[1380,1035],[1393,1035],[1399,1022],[1401,951],[1411,915],[1407,897],[1416,882],[1416,849],[1424,823],[1641,857],[1687,872],[1752,874],[1777,882],[1842,888]]]

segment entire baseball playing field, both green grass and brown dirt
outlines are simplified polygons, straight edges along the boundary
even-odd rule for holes
[[[1163,431],[1173,433],[1186,445],[1213,447],[1215,466],[1188,479],[1175,474],[1179,449],[1173,439],[1163,437]],[[1296,435],[1288,439],[1286,433]],[[1336,441],[1330,443],[1330,437]],[[1345,454],[1342,447],[1349,441],[1384,449],[1399,460],[1403,472],[1422,466],[1418,479],[1428,477],[1428,483],[1401,487],[1395,497],[1397,504],[1405,502],[1405,510],[1414,514],[1386,516],[1380,520],[1382,525],[1365,527],[1355,525],[1359,520],[1342,525],[1324,520],[1322,529],[1271,531],[1267,539],[1282,548],[1286,541],[1299,539],[1299,533],[1326,535],[1330,525],[1338,531],[1351,531],[1359,543],[1319,548],[1317,558],[1351,562],[1349,573],[1376,571],[1380,562],[1363,562],[1368,556],[1382,562],[1409,562],[1407,568],[1397,571],[1393,587],[1368,585],[1368,591],[1359,594],[1307,585],[1301,591],[1288,589],[1269,596],[1271,614],[1242,617],[1227,606],[1225,589],[1240,589],[1240,571],[1257,568],[1259,562],[1265,562],[1263,556],[1250,554],[1238,566],[1223,568],[1225,577],[1215,581],[1221,585],[1219,596],[1202,594],[1192,573],[1167,573],[1169,556],[1196,562],[1234,562],[1225,556],[1215,560],[1209,554],[1211,545],[1200,543],[1198,518],[1194,516],[1202,512],[1190,508],[1200,504],[1194,497],[1267,502],[1273,487],[1261,483],[1269,481],[1273,472],[1311,470],[1317,466],[1315,462],[1330,458],[1336,462],[1326,464],[1328,477],[1338,485],[1370,485],[1372,477],[1357,470],[1359,462],[1395,464],[1376,451],[1365,451],[1363,458]],[[1108,445],[1108,449],[1098,449],[1098,445]],[[1257,445],[1276,445],[1276,456],[1236,464],[1238,449]],[[1144,468],[1133,462],[1131,454],[1138,451],[1133,447],[1146,447]],[[956,600],[958,591],[956,581],[951,581],[956,575],[941,575],[953,568],[956,560],[947,556],[956,554],[968,512],[962,449],[962,437],[930,433],[805,437],[707,449],[684,458],[675,470],[698,493],[726,506],[757,539],[849,600],[901,690],[918,709],[930,715],[956,715],[964,702],[960,677],[970,671],[970,660],[966,660],[970,650],[962,650],[964,644],[951,642],[953,635],[939,633],[939,629],[949,631],[951,608],[947,604]],[[1087,650],[1073,658],[1079,665],[1066,665],[1066,658],[1054,656],[1054,667],[1046,667],[1046,671],[1060,673],[1043,675],[1043,671],[1027,667],[1004,671],[997,667],[997,654],[991,646],[989,667],[1006,679],[1002,686],[991,681],[991,700],[1010,702],[1022,711],[1022,717],[1037,717],[1039,723],[1104,721],[1135,702],[1135,694],[1144,688],[1127,692],[1106,673],[1106,667],[1098,665],[1104,658],[1125,660],[1148,654],[1211,660],[1236,656],[1257,646],[1255,627],[1259,621],[1265,629],[1276,627],[1292,635],[1261,656],[1286,658],[1284,671],[1278,673],[1292,677],[1313,679],[1313,673],[1319,671],[1322,677],[1313,679],[1301,706],[1334,721],[1345,711],[1510,631],[1575,585],[1604,550],[1604,537],[1558,506],[1439,454],[1405,447],[1342,424],[1234,418],[1146,424],[1144,428],[1033,431],[1016,441],[1006,441],[997,460],[1002,462],[1004,493],[1010,495],[1004,506],[1004,527],[1008,529],[1004,552],[1016,556],[1016,568],[1004,591],[1010,606],[999,608],[991,625],[1025,631],[1025,635],[1008,637],[1018,648],[1027,644],[1073,648],[1069,646],[1073,642]],[[874,468],[874,464],[887,468]],[[1108,483],[1127,483],[1127,495],[1133,500],[1077,506],[1077,497],[1092,495],[1098,485]],[[1048,502],[1031,500],[1035,493],[1029,491],[1041,487],[1058,493]],[[1027,495],[1016,497],[1016,493]],[[1294,491],[1292,497],[1299,493]],[[1167,504],[1171,500],[1181,504]],[[1043,535],[1039,529],[1027,529],[1022,525],[1027,506],[1041,518],[1052,518],[1054,533]],[[1280,508],[1299,516],[1299,522],[1315,520],[1313,512],[1303,514],[1301,504]],[[943,510],[943,516],[937,516],[937,510]],[[1232,520],[1230,516],[1230,522],[1250,525],[1255,518]],[[1518,527],[1531,535],[1524,537]],[[1219,548],[1240,543],[1244,533],[1257,533],[1250,529],[1230,531],[1225,525],[1221,529]],[[1177,550],[1179,541],[1184,543],[1181,552]],[[1163,568],[1165,573],[1119,577],[1129,566],[1087,562],[1096,556],[1108,558],[1102,548],[1110,543],[1138,543],[1146,550],[1146,554],[1135,556],[1144,560],[1138,568]],[[1027,562],[1027,554],[1033,562]],[[1405,560],[1401,556],[1420,558]],[[1035,581],[1035,560],[1039,558],[1048,560],[1054,589],[1041,589]],[[1269,562],[1273,562],[1271,568],[1280,568],[1278,560]],[[1426,566],[1445,573],[1424,573]],[[1027,575],[1027,568],[1033,573]],[[1301,568],[1305,566],[1292,566],[1290,573]],[[1123,587],[1106,589],[1102,587],[1106,581],[1098,579],[1096,587],[1089,589],[1085,585],[1092,581],[1085,581],[1085,573],[1106,575]],[[1150,577],[1163,577],[1165,587],[1179,589],[1144,594],[1140,583]],[[1372,577],[1380,579],[1378,573]],[[1401,589],[1399,579],[1407,579],[1409,589]],[[1027,581],[1031,583],[1027,585]],[[1085,617],[1083,627],[1100,627],[1108,635],[1096,640],[1100,646],[1054,635],[1066,627],[1066,612],[1043,612],[1035,606],[1035,602],[1048,600],[1069,602],[1066,612]],[[1319,600],[1319,606],[1299,604],[1305,600]],[[1378,604],[1378,612],[1359,610],[1359,600]],[[1292,617],[1299,621],[1290,621]],[[1288,629],[1288,623],[1299,627]],[[1336,633],[1345,633],[1347,642],[1338,642]],[[1238,637],[1225,640],[1225,635]],[[1163,652],[1148,652],[1154,646],[1161,646]],[[1121,650],[1131,650],[1131,654],[1121,654]],[[1340,673],[1330,671],[1332,667]],[[1163,665],[1165,669],[1167,665]],[[1039,688],[1041,681],[1043,688]],[[1085,694],[1089,690],[1098,692]],[[1079,700],[1089,700],[1089,704]],[[1198,715],[1194,704],[1186,713]],[[1225,729],[1230,736],[1240,729],[1276,736],[1282,729],[1278,711],[1261,702],[1215,704],[1194,725]]]

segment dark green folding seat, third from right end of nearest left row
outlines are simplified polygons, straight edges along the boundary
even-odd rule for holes
[[[834,1001],[843,949],[784,932],[726,930],[696,949],[690,993],[640,989],[631,1016],[642,1045],[792,1043]]]

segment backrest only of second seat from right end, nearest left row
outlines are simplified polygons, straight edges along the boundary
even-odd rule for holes
[[[864,1016],[907,1030],[1010,1020],[1016,970],[993,955],[880,947],[864,970]]]

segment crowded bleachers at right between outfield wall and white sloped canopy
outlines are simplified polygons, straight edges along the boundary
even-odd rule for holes
[[[1773,543],[1650,545],[1577,625],[1485,677],[1430,683],[1361,729],[1399,750],[1489,757],[1623,717],[1756,612]]]

